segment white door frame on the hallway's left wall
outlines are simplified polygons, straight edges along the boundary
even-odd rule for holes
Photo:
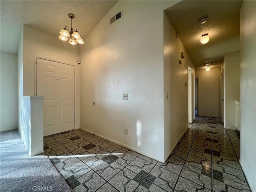
[[[193,122],[192,106],[192,69],[188,66],[188,124]]]

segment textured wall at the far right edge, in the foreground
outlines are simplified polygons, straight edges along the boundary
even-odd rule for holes
[[[240,164],[256,191],[256,1],[244,1],[240,12]]]

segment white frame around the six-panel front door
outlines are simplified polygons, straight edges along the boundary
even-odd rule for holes
[[[48,61],[52,61],[52,62],[57,62],[57,63],[61,63],[61,64],[74,66],[74,128],[76,129],[76,116],[77,116],[77,112],[76,112],[76,109],[77,109],[77,106],[76,106],[76,65],[67,64],[67,63],[55,61],[52,59],[34,56],[34,96],[38,96],[37,95],[37,64],[38,64],[37,59],[48,60]]]

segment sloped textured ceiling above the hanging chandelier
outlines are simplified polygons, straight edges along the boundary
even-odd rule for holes
[[[9,1],[1,0],[1,51],[17,53],[22,23],[59,36],[64,26],[73,28],[84,38],[117,1]]]

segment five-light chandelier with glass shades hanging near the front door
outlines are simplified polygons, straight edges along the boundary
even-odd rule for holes
[[[68,14],[68,17],[71,19],[70,31],[69,31],[68,26],[65,26],[64,29],[62,29],[60,31],[59,39],[62,40],[62,41],[67,41],[68,37],[70,37],[69,41],[68,41],[70,44],[72,44],[72,45],[75,45],[77,43],[84,44],[84,40],[82,39],[81,35],[78,33],[77,29],[75,29],[74,32],[73,32],[72,19],[75,18],[74,14],[70,13],[70,14]]]

